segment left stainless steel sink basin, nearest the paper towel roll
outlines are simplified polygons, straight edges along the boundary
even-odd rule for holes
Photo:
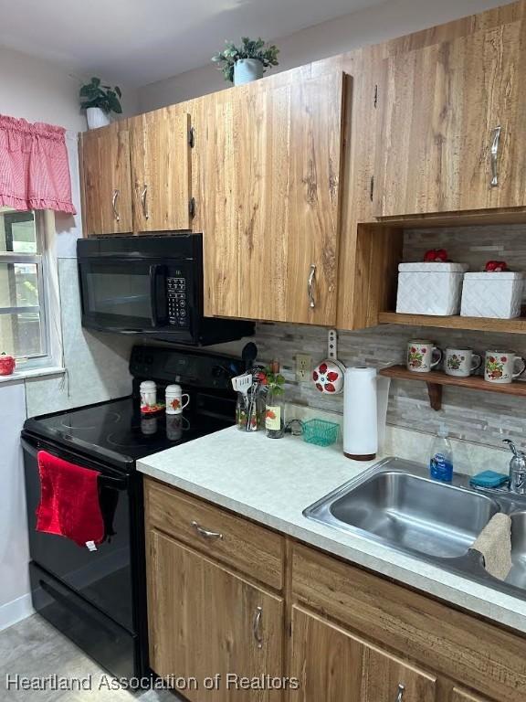
[[[387,463],[383,470],[343,485],[304,514],[407,552],[435,558],[464,556],[489,519],[500,512],[499,503],[415,473],[415,469],[389,470]]]

